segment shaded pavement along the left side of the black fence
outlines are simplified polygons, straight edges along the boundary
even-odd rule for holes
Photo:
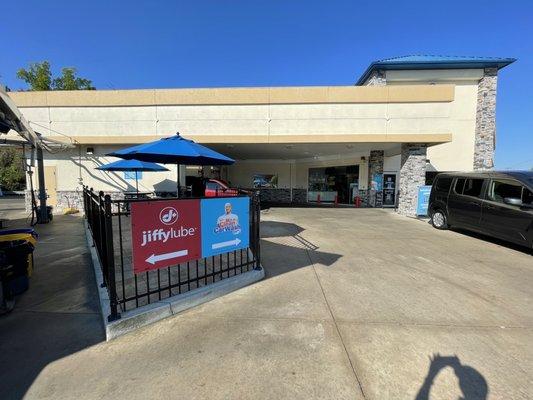
[[[105,340],[82,218],[55,216],[35,229],[30,289],[0,316],[2,400],[21,399],[48,365]]]

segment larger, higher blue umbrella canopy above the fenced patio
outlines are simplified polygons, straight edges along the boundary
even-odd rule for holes
[[[175,136],[128,147],[108,156],[182,165],[230,165],[235,162],[201,144],[182,138],[179,132]]]

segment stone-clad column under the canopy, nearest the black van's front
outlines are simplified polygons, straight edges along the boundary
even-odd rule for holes
[[[403,143],[398,213],[416,216],[418,188],[426,184],[426,145]]]

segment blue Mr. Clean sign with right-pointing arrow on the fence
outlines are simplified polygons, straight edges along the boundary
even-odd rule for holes
[[[249,246],[249,197],[202,199],[200,213],[203,257]]]

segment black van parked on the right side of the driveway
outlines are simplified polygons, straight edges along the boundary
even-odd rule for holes
[[[533,172],[438,174],[428,210],[437,229],[464,228],[533,248]]]

